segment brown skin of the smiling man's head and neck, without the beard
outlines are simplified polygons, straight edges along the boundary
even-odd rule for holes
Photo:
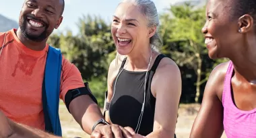
[[[47,1],[38,1],[38,0],[26,0],[20,11],[20,19],[19,24],[21,26],[21,22],[26,15],[34,15],[37,19],[36,21],[41,21],[44,26],[40,28],[35,28],[26,24],[27,31],[29,34],[34,36],[39,36],[46,29],[47,32],[53,32],[54,29],[59,28],[63,17],[61,15],[61,11],[63,8],[62,0],[47,0]],[[27,20],[27,19],[25,19]],[[48,26],[48,28],[46,28]],[[44,40],[41,42],[35,42],[34,40],[30,40],[22,34],[22,30],[18,28],[17,36],[20,41],[32,50],[42,50],[45,47],[46,41],[50,34],[46,36]]]

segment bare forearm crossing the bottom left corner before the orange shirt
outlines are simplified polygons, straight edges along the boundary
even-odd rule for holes
[[[3,138],[59,138],[44,131],[15,123],[2,112],[0,112],[0,123],[0,137]]]

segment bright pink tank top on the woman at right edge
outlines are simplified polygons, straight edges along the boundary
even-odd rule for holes
[[[232,100],[231,78],[233,71],[234,67],[230,61],[222,94],[222,105],[224,107],[223,125],[226,136],[228,138],[256,138],[256,108],[249,111],[240,110]]]

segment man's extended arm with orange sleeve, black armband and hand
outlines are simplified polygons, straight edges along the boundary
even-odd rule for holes
[[[77,67],[65,61],[65,63],[63,63],[61,81],[61,98],[64,100],[69,112],[86,133],[92,134],[92,127],[94,127],[98,120],[104,118],[104,116],[98,105],[90,97],[92,94],[89,88],[84,85],[82,76]],[[79,92],[75,91],[75,89],[79,89]],[[73,92],[75,92],[75,94],[73,94]],[[66,100],[66,96],[68,95],[73,96],[73,98],[67,98],[69,101]],[[93,136],[91,137],[101,138],[102,136],[106,136],[111,138],[113,134],[115,137],[122,137],[122,133],[123,135],[131,136],[128,131],[122,131],[118,125],[98,124],[94,130],[94,134],[92,134]]]

